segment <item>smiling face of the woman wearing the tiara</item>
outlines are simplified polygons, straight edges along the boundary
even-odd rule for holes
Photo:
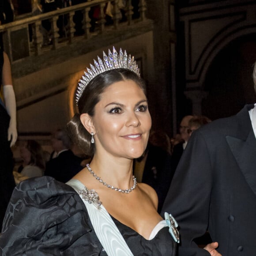
[[[138,158],[147,147],[151,116],[143,90],[132,80],[113,83],[92,117],[96,154]]]

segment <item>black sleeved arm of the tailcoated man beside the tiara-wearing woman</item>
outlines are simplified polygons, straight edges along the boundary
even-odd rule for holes
[[[212,171],[209,150],[200,134],[194,132],[177,166],[162,208],[176,218],[181,235],[179,256],[209,256],[193,241],[207,230]]]

